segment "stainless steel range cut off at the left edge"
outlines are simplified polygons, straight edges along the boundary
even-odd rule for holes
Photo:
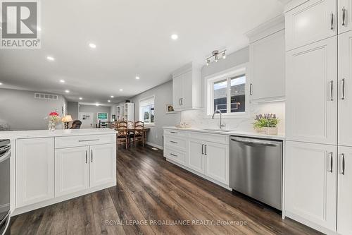
[[[10,140],[0,140],[0,234],[6,234],[10,224]]]

